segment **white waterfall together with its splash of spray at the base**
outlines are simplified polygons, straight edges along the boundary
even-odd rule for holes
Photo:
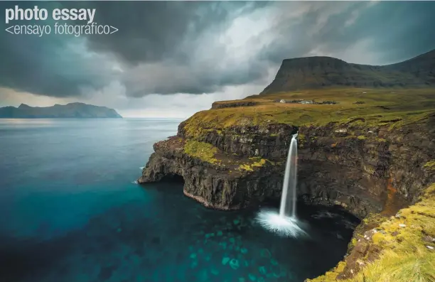
[[[262,210],[257,215],[257,220],[262,227],[284,237],[298,237],[300,234],[306,234],[306,232],[299,227],[299,222],[296,219],[296,184],[298,171],[297,136],[297,133],[294,134],[290,142],[279,213],[272,210]]]

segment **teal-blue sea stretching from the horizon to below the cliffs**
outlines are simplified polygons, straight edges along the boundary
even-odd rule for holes
[[[342,259],[355,224],[343,212],[299,205],[310,237],[281,238],[257,210],[132,183],[179,122],[0,119],[0,281],[291,282]]]

